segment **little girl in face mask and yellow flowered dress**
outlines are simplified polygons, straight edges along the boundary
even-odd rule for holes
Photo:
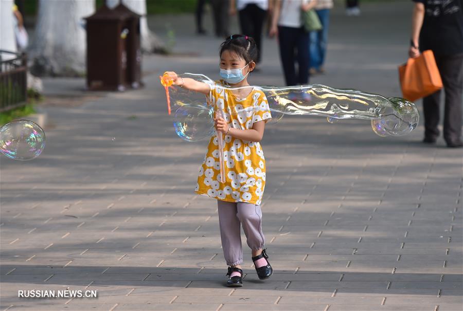
[[[216,135],[209,141],[195,192],[217,199],[223,254],[229,266],[226,284],[238,287],[243,285],[240,224],[247,245],[252,249],[259,279],[268,279],[273,272],[267,260],[269,257],[262,249],[265,239],[260,203],[265,187],[265,158],[259,143],[271,114],[267,99],[258,88],[224,88],[249,86],[247,77],[257,60],[254,39],[240,34],[230,35],[221,44],[219,55],[219,72],[223,79],[215,83],[182,78],[172,71],[167,74],[173,85],[205,94],[214,107]],[[218,115],[218,109],[221,109],[222,117]],[[221,150],[218,147],[218,135],[223,134],[225,182],[220,178]]]

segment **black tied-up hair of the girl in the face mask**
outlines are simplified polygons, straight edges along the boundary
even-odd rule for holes
[[[223,51],[237,54],[238,57],[250,63],[257,60],[257,45],[253,38],[244,34],[232,34],[220,45],[219,56]]]

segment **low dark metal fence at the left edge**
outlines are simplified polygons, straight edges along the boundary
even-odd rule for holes
[[[26,54],[0,50],[0,112],[24,106],[26,100]]]

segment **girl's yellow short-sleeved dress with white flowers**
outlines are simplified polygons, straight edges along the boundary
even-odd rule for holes
[[[267,122],[272,118],[268,101],[260,89],[253,87],[250,94],[239,99],[231,90],[223,88],[222,80],[209,85],[209,104],[213,106],[215,114],[218,107],[222,108],[223,118],[229,126],[240,130],[252,129],[253,123],[262,120]],[[258,109],[244,111],[247,107]],[[235,111],[237,113],[231,113]],[[223,141],[225,182],[220,182],[216,131],[210,138],[194,191],[227,202],[260,205],[265,187],[265,158],[260,143],[241,140],[231,135],[225,135]]]

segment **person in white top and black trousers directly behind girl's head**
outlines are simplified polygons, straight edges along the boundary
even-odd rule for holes
[[[235,15],[238,10],[241,33],[251,36],[256,42],[257,64],[260,63],[262,56],[262,28],[270,6],[270,0],[230,1],[230,15]],[[256,68],[254,68],[255,70]]]

